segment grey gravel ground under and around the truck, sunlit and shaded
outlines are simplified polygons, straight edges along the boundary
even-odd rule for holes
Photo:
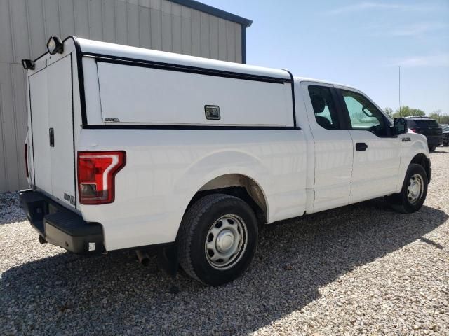
[[[154,259],[40,245],[0,195],[0,335],[449,335],[449,149],[431,160],[416,214],[373,200],[269,225],[240,279],[180,272],[177,294]]]

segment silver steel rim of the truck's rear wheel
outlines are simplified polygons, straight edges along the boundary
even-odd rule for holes
[[[204,252],[210,266],[216,269],[229,269],[245,253],[248,230],[239,216],[222,216],[210,226]]]

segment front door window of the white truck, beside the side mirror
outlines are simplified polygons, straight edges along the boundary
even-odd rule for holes
[[[362,94],[340,90],[349,113],[351,130],[369,131],[378,137],[387,136],[384,115]]]

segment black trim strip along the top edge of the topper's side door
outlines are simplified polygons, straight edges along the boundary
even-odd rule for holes
[[[206,76],[236,78],[236,79],[243,79],[243,80],[255,80],[257,82],[278,83],[278,84],[290,83],[292,81],[291,78],[286,79],[286,78],[279,78],[279,77],[251,75],[249,73],[239,73],[239,72],[232,72],[232,71],[225,71],[225,70],[215,70],[215,69],[202,68],[199,66],[187,66],[187,65],[180,65],[180,64],[173,64],[173,63],[147,61],[145,59],[110,56],[110,55],[105,55],[105,54],[98,54],[95,52],[83,52],[83,56],[95,57],[95,62],[123,64],[123,65],[130,65],[130,66],[142,66],[145,68],[180,71],[180,72],[187,72],[187,73],[196,73],[199,75],[206,75]],[[288,72],[288,71],[286,71],[286,72]]]

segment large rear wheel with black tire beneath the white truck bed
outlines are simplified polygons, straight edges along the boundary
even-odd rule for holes
[[[180,265],[208,285],[232,281],[250,265],[257,234],[256,216],[246,202],[231,195],[206,195],[182,218]]]

